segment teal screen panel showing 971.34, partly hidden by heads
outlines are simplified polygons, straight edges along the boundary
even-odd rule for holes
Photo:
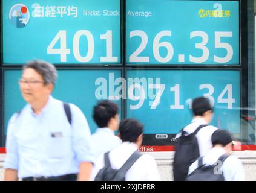
[[[199,96],[208,97],[214,108],[211,124],[240,132],[239,71],[134,70],[127,80],[127,115],[142,120],[146,134],[179,133],[191,121],[191,101]]]

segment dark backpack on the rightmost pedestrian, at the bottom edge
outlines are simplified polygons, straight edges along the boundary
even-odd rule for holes
[[[213,165],[203,164],[203,157],[199,157],[197,169],[186,178],[187,181],[225,181],[222,172],[222,164],[228,155],[220,156]],[[216,168],[218,167],[218,168]]]

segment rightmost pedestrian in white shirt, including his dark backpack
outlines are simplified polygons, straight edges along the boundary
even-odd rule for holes
[[[188,181],[242,181],[245,172],[241,161],[231,154],[232,136],[227,130],[212,134],[213,148],[189,167]]]

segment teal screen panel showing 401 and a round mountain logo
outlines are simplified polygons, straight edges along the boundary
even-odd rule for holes
[[[3,0],[3,63],[120,63],[119,0]]]

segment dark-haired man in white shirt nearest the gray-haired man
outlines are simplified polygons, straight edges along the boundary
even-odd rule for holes
[[[97,158],[122,143],[114,133],[119,127],[117,104],[109,100],[99,101],[94,106],[93,119],[99,127],[92,136],[93,153]]]

